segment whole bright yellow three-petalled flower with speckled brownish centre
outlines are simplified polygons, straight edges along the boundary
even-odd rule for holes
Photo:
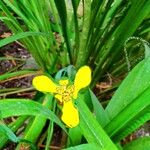
[[[72,128],[79,124],[79,114],[73,99],[76,99],[78,92],[87,87],[90,82],[91,69],[88,66],[83,66],[76,73],[74,84],[70,84],[68,79],[60,80],[59,84],[56,84],[44,75],[35,77],[32,83],[38,91],[54,94],[55,98],[62,104],[62,121]]]

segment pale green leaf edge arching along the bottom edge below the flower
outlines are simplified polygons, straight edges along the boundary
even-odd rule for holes
[[[69,147],[63,150],[101,150],[97,144],[81,144],[79,146]]]

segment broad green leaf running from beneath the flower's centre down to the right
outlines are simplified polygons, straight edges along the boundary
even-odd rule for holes
[[[79,95],[76,104],[80,113],[80,127],[84,137],[89,143],[97,143],[101,149],[117,150],[115,144],[97,122],[83,99],[84,98]]]

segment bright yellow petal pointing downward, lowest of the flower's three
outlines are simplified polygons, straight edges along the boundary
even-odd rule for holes
[[[72,101],[64,103],[61,119],[70,128],[76,127],[79,124],[79,113]]]

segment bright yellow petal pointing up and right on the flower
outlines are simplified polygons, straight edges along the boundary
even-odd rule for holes
[[[77,94],[80,89],[85,88],[91,82],[91,69],[88,66],[81,67],[75,76],[74,86],[74,98],[77,98]]]

